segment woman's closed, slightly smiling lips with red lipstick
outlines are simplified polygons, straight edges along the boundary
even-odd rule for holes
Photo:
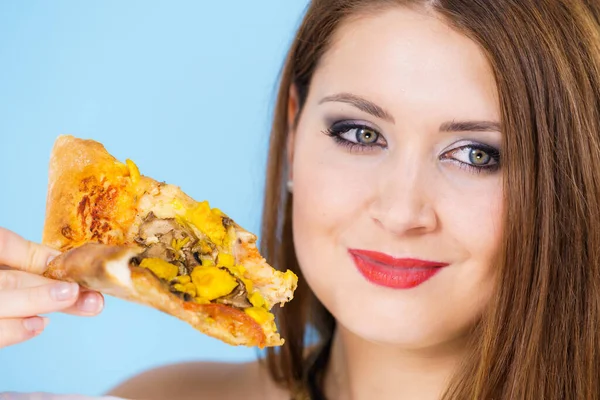
[[[431,279],[449,264],[414,258],[394,258],[367,250],[348,250],[358,271],[376,285],[411,289]]]

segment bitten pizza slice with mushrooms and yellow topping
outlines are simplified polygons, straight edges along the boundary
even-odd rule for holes
[[[279,346],[274,305],[297,276],[208,202],[140,174],[92,140],[60,136],[50,159],[45,276],[145,304],[232,345]]]

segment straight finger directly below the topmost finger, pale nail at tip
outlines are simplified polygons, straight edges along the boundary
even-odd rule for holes
[[[0,318],[29,317],[63,311],[79,296],[79,285],[56,282],[50,285],[0,291]]]

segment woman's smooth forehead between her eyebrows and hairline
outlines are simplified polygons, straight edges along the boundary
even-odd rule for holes
[[[393,114],[498,119],[490,65],[479,46],[425,11],[394,7],[345,21],[311,92],[352,92]]]

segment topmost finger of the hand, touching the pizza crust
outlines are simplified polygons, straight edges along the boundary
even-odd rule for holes
[[[56,250],[0,228],[0,265],[41,274],[46,270],[48,261],[59,254]]]

